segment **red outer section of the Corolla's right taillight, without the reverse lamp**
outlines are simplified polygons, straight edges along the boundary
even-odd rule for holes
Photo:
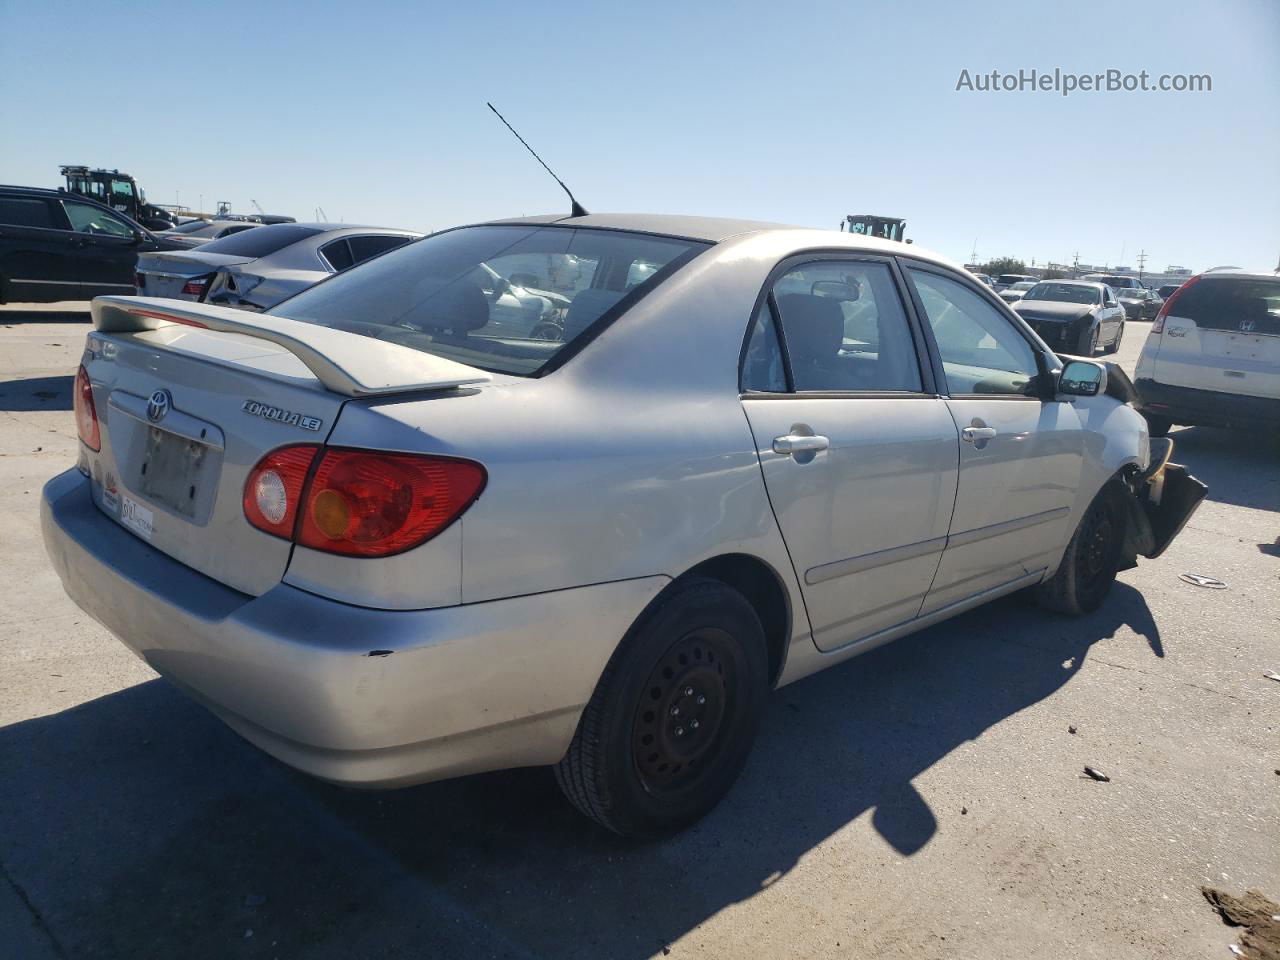
[[[298,543],[351,557],[402,553],[457,520],[485,479],[467,460],[328,449],[307,486]]]

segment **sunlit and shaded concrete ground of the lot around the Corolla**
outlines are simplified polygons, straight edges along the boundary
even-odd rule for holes
[[[632,844],[548,771],[296,774],[73,607],[36,504],[77,307],[0,311],[0,955],[1198,960],[1234,941],[1201,884],[1280,899],[1275,436],[1178,430],[1210,500],[1098,613],[1011,598],[786,687],[728,800]]]

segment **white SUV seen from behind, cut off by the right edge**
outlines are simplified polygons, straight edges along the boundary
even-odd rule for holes
[[[1280,429],[1280,276],[1215,271],[1165,301],[1142,344],[1140,410],[1153,436],[1174,424]]]

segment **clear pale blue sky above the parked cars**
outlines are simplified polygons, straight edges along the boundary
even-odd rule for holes
[[[956,92],[961,69],[1212,92]],[[1280,3],[0,0],[0,182],[438,229],[566,200],[835,228],[966,260],[1280,259]]]

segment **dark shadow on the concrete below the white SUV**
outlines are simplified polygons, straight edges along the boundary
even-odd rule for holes
[[[1280,511],[1280,433],[1188,426],[1169,435],[1174,462],[1208,484],[1208,499]]]

